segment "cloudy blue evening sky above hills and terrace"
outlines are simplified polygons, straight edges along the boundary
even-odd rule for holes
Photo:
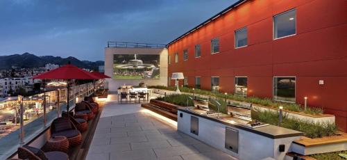
[[[103,60],[108,40],[167,44],[235,0],[1,0],[0,56]]]

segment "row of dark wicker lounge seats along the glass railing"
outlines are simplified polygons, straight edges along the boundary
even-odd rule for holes
[[[93,97],[85,97],[85,100],[77,103],[73,111],[62,112],[61,117],[51,122],[50,138],[42,148],[29,145],[18,147],[18,159],[64,160],[69,159],[71,153],[75,154],[76,147],[81,147],[85,138],[82,134],[88,134],[90,122],[99,113],[99,104],[94,102]]]

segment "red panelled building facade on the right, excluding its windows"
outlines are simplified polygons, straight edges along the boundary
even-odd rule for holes
[[[200,77],[205,90],[211,89],[211,77],[219,77],[219,91],[228,93],[235,93],[235,77],[247,77],[248,97],[269,98],[274,97],[274,77],[294,77],[294,101],[303,104],[307,97],[308,106],[334,114],[346,131],[346,5],[344,0],[239,1],[169,43],[169,75],[183,72],[192,88],[195,77]],[[289,10],[296,12],[296,32],[275,38],[274,19]],[[235,31],[245,27],[247,45],[235,48]],[[219,39],[219,51],[211,54],[214,38]],[[197,58],[196,45],[201,49]],[[174,81],[169,85],[174,86]]]

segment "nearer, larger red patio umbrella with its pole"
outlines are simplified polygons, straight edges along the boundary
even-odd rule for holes
[[[71,79],[100,79],[99,77],[94,76],[90,72],[82,70],[79,67],[74,65],[63,65],[62,67],[58,67],[54,70],[50,70],[39,74],[33,79],[65,79],[67,80],[67,112],[69,112],[69,80]]]

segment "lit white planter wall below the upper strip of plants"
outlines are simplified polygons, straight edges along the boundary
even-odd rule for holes
[[[162,90],[162,89],[156,89],[156,88],[153,88],[153,93],[156,93],[159,95],[174,95],[174,94],[176,94],[175,91]],[[192,93],[184,93],[184,94],[193,95]],[[194,95],[196,95],[198,97],[209,97],[208,95],[199,95],[199,94],[194,94]],[[232,99],[227,99],[228,104],[232,103],[232,102],[239,103],[242,105],[242,107],[249,106],[249,103],[246,103],[246,102],[238,102],[238,101],[235,101]],[[257,104],[253,104],[253,107],[255,109],[259,109],[260,111],[277,112],[276,109],[271,109],[268,106],[260,106]],[[294,112],[294,111],[283,111],[283,113],[287,113],[289,118],[297,118],[299,120],[308,120],[308,121],[312,121],[312,122],[332,122],[332,123],[335,123],[335,115],[330,115],[330,114],[310,115],[310,114],[299,113],[299,112]]]

